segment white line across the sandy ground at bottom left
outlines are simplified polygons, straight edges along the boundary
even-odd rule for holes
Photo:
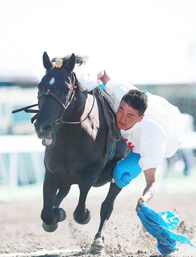
[[[15,256],[35,256],[35,255],[45,255],[45,254],[56,254],[63,252],[81,252],[82,249],[56,249],[51,251],[37,251],[37,252],[15,252],[9,254],[1,254],[0,257],[15,257]]]

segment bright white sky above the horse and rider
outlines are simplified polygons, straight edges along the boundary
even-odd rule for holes
[[[196,2],[2,1],[0,77],[44,75],[42,55],[79,53],[112,78],[196,82]]]

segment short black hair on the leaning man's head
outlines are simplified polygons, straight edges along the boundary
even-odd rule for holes
[[[123,95],[122,101],[125,101],[130,107],[136,109],[140,116],[144,114],[148,107],[147,95],[138,89],[129,90]]]

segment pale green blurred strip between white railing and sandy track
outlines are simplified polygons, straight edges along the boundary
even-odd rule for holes
[[[162,174],[158,174],[157,193],[162,194],[180,194],[180,193],[196,193],[196,172],[192,172],[189,176],[185,177],[183,174],[171,173],[168,177],[163,177]],[[88,197],[100,197],[106,196],[109,190],[110,183],[106,185],[94,188],[92,187],[88,193]],[[131,181],[131,183],[125,186],[120,194],[127,196],[139,195],[142,196],[143,190],[146,187],[145,176],[141,173],[137,178]],[[28,201],[42,199],[43,197],[43,185],[32,184],[28,186],[18,186],[14,190],[9,187],[0,187],[0,202],[10,201]],[[155,196],[156,197],[156,194]],[[66,198],[79,198],[78,185],[72,185],[71,190]]]

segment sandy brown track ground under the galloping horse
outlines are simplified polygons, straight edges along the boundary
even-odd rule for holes
[[[139,196],[119,194],[117,197],[106,226],[105,256],[162,256],[156,248],[156,240],[145,231],[136,215],[135,205]],[[53,233],[42,229],[42,200],[0,202],[0,254],[83,248],[82,252],[43,256],[90,256],[88,251],[98,230],[103,200],[104,197],[87,198],[91,220],[86,225],[80,225],[73,220],[78,200],[69,198],[68,195],[61,204],[67,217]],[[196,194],[156,194],[150,202],[150,206],[156,211],[174,210],[181,221],[176,232],[187,236],[196,244],[195,204]],[[170,256],[195,257],[196,250],[183,245]]]

